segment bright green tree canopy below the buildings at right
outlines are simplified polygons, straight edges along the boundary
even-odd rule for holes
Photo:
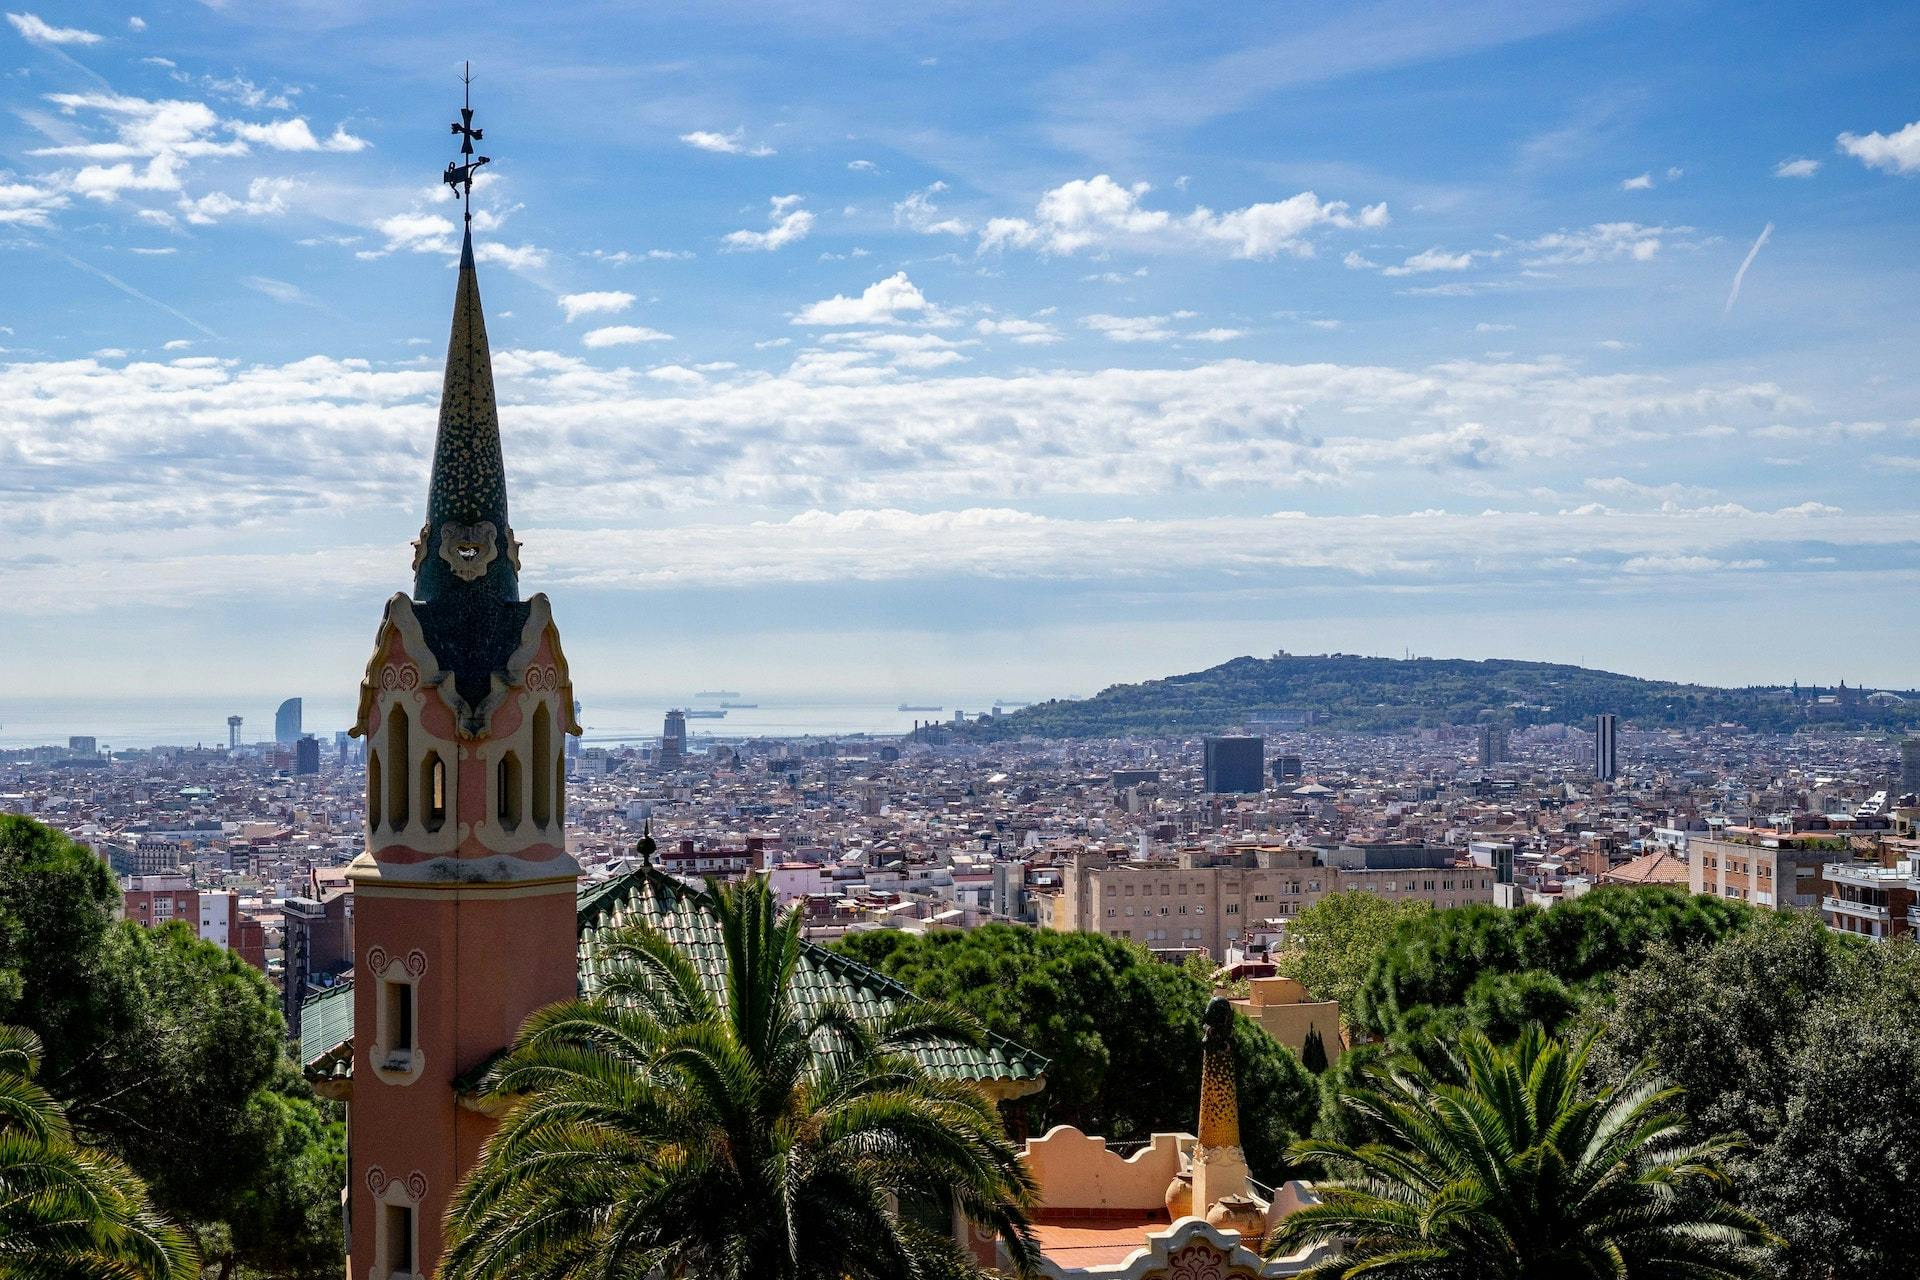
[[[1494,1040],[1565,1025],[1655,942],[1709,942],[1753,910],[1676,889],[1596,889],[1551,908],[1467,906],[1402,921],[1348,1011],[1404,1048],[1473,1027]]]

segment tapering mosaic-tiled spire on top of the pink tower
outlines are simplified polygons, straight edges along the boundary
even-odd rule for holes
[[[520,547],[507,520],[507,468],[493,405],[493,357],[480,309],[472,230],[461,242],[453,292],[453,334],[440,390],[440,434],[434,478],[426,491],[426,528],[415,553],[413,595],[438,601],[486,593],[520,599]]]

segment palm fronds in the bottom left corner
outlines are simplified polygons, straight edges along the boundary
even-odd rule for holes
[[[35,1082],[40,1040],[0,1027],[0,1276],[6,1280],[192,1280],[200,1259],[111,1155],[73,1142],[67,1115]]]

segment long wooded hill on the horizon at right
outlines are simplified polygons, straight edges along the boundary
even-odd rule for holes
[[[1091,699],[1033,702],[970,727],[1006,737],[1156,737],[1269,725],[1390,733],[1480,722],[1592,725],[1599,712],[1640,727],[1743,725],[1908,729],[1920,693],[1839,685],[1720,689],[1640,679],[1559,662],[1288,654],[1233,658],[1204,672],[1112,685]]]

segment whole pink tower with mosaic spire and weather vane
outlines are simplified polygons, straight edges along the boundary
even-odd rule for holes
[[[480,132],[461,119],[470,155]],[[474,167],[447,180],[470,190]],[[447,1201],[493,1130],[465,1077],[578,988],[563,739],[580,729],[547,597],[520,599],[470,223],[413,572],[353,725],[351,1280],[436,1270]]]

